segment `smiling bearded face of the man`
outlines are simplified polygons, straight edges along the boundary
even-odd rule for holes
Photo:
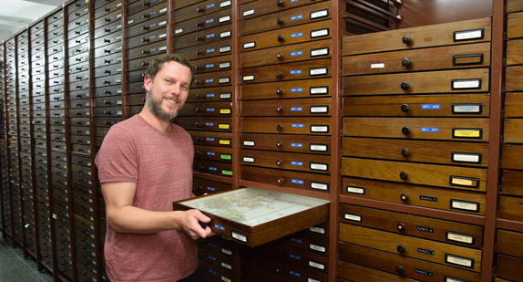
[[[154,77],[144,79],[146,105],[160,120],[172,120],[185,104],[190,88],[190,68],[175,61],[165,62]]]

